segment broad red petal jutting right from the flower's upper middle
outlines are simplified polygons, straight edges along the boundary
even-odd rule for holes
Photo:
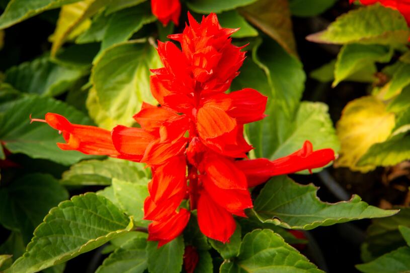
[[[265,108],[268,97],[252,88],[245,88],[229,93],[232,100],[232,109],[228,114],[240,123],[250,123],[265,117]]]

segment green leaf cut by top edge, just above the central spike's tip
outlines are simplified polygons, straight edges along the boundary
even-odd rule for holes
[[[220,13],[250,5],[257,0],[189,0],[187,6],[196,13]]]

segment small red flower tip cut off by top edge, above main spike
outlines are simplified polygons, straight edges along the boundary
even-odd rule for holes
[[[178,26],[181,3],[180,0],[151,0],[151,11],[164,26],[168,25],[170,21]]]

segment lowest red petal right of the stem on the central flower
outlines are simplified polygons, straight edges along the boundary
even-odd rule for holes
[[[235,232],[236,223],[232,215],[216,204],[206,191],[201,191],[198,200],[198,225],[205,236],[227,242]]]

